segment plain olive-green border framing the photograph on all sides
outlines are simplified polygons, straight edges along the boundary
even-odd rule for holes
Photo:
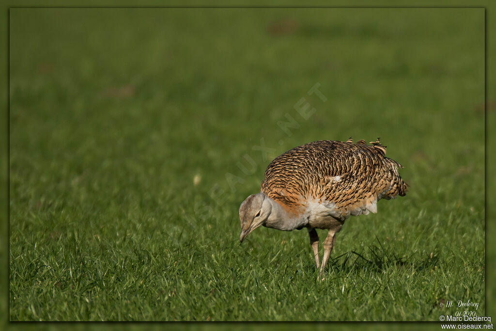
[[[209,5],[209,2],[212,5]],[[293,4],[292,4],[293,3]],[[213,1],[5,1],[5,3],[0,5],[1,15],[4,19],[0,20],[0,36],[3,36],[3,47],[0,49],[0,59],[4,64],[0,67],[0,75],[3,77],[1,80],[1,90],[0,90],[0,100],[5,108],[3,110],[4,116],[0,119],[0,132],[4,132],[2,137],[2,143],[0,144],[0,154],[2,164],[0,166],[0,183],[5,187],[5,190],[0,191],[0,211],[2,220],[0,222],[0,263],[4,265],[0,268],[0,280],[1,290],[0,290],[0,328],[3,330],[95,330],[95,329],[108,329],[108,330],[251,330],[251,329],[272,329],[276,330],[307,330],[312,329],[315,331],[320,330],[357,330],[357,329],[372,329],[372,330],[396,330],[401,327],[403,330],[418,330],[419,327],[429,330],[440,330],[440,324],[436,322],[406,322],[406,323],[396,323],[396,322],[385,322],[385,323],[360,323],[360,322],[348,322],[348,323],[215,323],[215,325],[209,325],[209,323],[18,323],[8,321],[8,243],[9,243],[9,231],[8,231],[8,219],[9,219],[9,186],[8,186],[8,153],[9,153],[9,103],[8,103],[8,82],[9,82],[9,62],[8,62],[8,47],[9,47],[9,8],[11,7],[288,7],[288,8],[301,8],[307,7],[302,6],[299,1],[270,1],[269,3],[254,2],[254,1],[233,1],[231,3],[213,4]],[[495,36],[496,36],[496,2],[491,0],[483,1],[446,1],[446,0],[433,0],[433,1],[312,1],[308,4],[308,7],[369,7],[369,8],[393,8],[393,7],[403,7],[403,8],[439,8],[439,7],[484,7],[485,8],[485,24],[486,24],[486,190],[485,190],[485,205],[486,205],[486,315],[496,318],[496,308],[493,306],[496,297],[495,290],[495,280],[496,280],[496,246],[494,244],[496,231],[495,231],[495,210],[496,208],[492,206],[494,199],[494,192],[496,189],[496,177],[494,176],[493,170],[494,162],[494,148],[495,148],[495,137],[493,129],[496,127],[496,109],[493,104],[493,108],[487,109],[488,101],[496,101],[496,92],[491,87],[494,87],[494,77],[493,66],[492,66],[492,56],[496,54],[495,52]]]

